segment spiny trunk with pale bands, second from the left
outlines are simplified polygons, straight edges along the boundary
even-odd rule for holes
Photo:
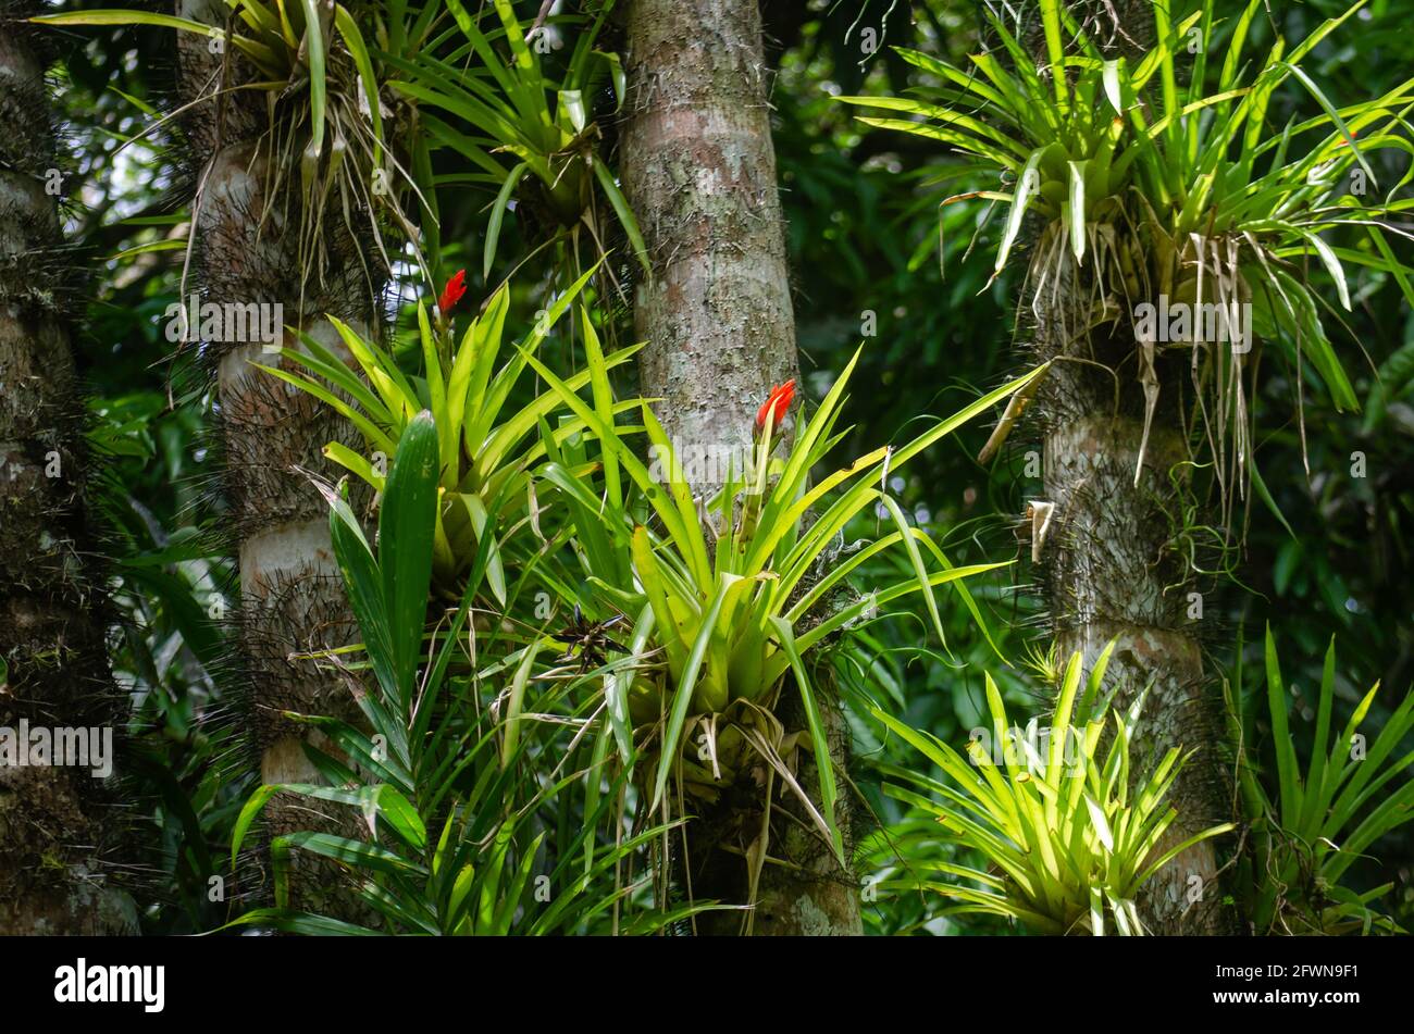
[[[178,13],[225,24],[223,4],[178,0]],[[298,168],[273,168],[262,134],[270,127],[264,93],[209,95],[249,79],[239,55],[214,54],[209,41],[182,34],[181,76],[188,99],[208,95],[187,123],[195,154],[211,155],[198,174],[194,199],[195,268],[202,297],[218,305],[283,307],[283,322],[307,332],[348,363],[342,340],[325,315],[368,335],[375,322],[373,291],[382,278],[366,268],[361,242],[341,215],[325,219],[327,261],[301,268]],[[283,103],[304,103],[293,97]],[[276,109],[279,112],[279,109]],[[277,114],[279,117],[279,114]],[[287,346],[298,346],[286,333]],[[216,340],[219,424],[226,453],[229,527],[239,540],[240,667],[250,694],[252,739],[262,781],[322,783],[304,754],[308,733],[281,711],[332,715],[358,722],[348,685],[305,655],[356,638],[329,545],[328,509],[296,469],[337,476],[322,458],[329,441],[355,451],[362,439],[332,410],[288,387],[253,363],[281,360],[264,343]],[[318,744],[317,740],[315,744]],[[320,815],[308,801],[279,797],[266,809],[269,833],[324,829],[356,836],[339,812]],[[342,880],[328,866],[296,859],[291,904],[324,914],[359,917]],[[352,911],[351,911],[352,908]]]

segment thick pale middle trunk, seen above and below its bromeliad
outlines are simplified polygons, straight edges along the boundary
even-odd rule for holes
[[[633,0],[628,76],[624,186],[653,267],[635,299],[638,336],[648,340],[643,394],[663,400],[658,412],[690,473],[689,460],[706,460],[694,477],[694,490],[706,492],[724,473],[711,458],[748,455],[756,407],[772,384],[799,376],[756,0]],[[793,702],[789,685],[783,695]],[[779,716],[788,730],[805,725],[797,706],[783,705]],[[826,722],[843,767],[848,735],[834,701]],[[725,814],[693,824],[696,898],[745,901],[745,862],[731,849],[751,842],[758,805],[728,801]],[[790,805],[778,798],[775,807]],[[755,932],[861,932],[853,874],[803,824],[778,825],[771,855],[785,864],[765,866]],[[697,925],[735,932],[738,918],[715,913]]]

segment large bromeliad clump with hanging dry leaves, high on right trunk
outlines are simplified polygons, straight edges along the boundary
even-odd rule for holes
[[[1001,206],[995,271],[1015,254],[1024,219],[1039,219],[1027,267],[1032,304],[1070,321],[1063,340],[1100,323],[1133,331],[1147,425],[1157,405],[1154,350],[1192,349],[1195,425],[1205,428],[1219,483],[1257,477],[1266,496],[1251,456],[1256,350],[1233,336],[1240,307],[1251,305],[1256,336],[1274,339],[1298,369],[1298,384],[1309,367],[1338,410],[1359,408],[1326,333],[1324,312],[1335,308],[1308,273],[1324,270],[1345,309],[1350,266],[1390,275],[1414,302],[1414,270],[1387,242],[1408,236],[1397,216],[1414,201],[1398,195],[1414,174],[1381,185],[1372,165],[1377,151],[1414,154],[1406,117],[1414,79],[1338,107],[1304,68],[1365,0],[1294,47],[1278,37],[1264,55],[1247,52],[1263,0],[1250,0],[1236,20],[1216,17],[1213,0],[1188,4],[1182,16],[1181,6],[1154,3],[1155,42],[1134,59],[1102,51],[1060,0],[1035,8],[1044,52],[988,10],[1000,48],[973,55],[971,68],[899,49],[932,78],[918,96],[840,100],[896,113],[861,121],[943,141],[1001,175],[1000,189],[949,201]],[[1191,54],[1192,65],[1181,66]],[[1274,127],[1268,112],[1290,85],[1321,113]],[[1350,243],[1326,240],[1338,232]],[[1135,319],[1141,305],[1165,298],[1202,314],[1203,331],[1212,322],[1215,332],[1193,326],[1198,315],[1172,333]]]

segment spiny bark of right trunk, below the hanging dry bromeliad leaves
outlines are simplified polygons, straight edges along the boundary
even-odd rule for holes
[[[1133,340],[1126,345],[1134,350]],[[1133,359],[1128,367],[1118,356],[1113,362],[1123,384]],[[1181,366],[1158,363],[1161,393],[1181,390]],[[1185,441],[1175,414],[1161,408],[1135,486],[1143,414],[1134,405],[1116,411],[1113,379],[1093,367],[1062,360],[1048,380],[1038,401],[1048,425],[1045,497],[1055,511],[1042,561],[1056,644],[1062,660],[1079,651],[1089,668],[1116,640],[1107,684],[1121,687],[1118,706],[1148,687],[1134,742],[1137,774],[1152,771],[1169,747],[1196,750],[1169,794],[1178,819],[1167,849],[1232,815],[1222,705],[1203,675],[1200,623],[1189,617],[1200,613],[1193,607],[1202,596],[1185,558],[1169,548],[1171,521],[1182,520],[1169,477],[1186,456]],[[1216,872],[1212,840],[1179,855],[1141,901],[1145,924],[1164,934],[1230,932]]]

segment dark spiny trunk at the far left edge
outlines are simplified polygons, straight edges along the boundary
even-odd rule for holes
[[[0,8],[0,730],[98,727],[112,743],[122,695],[85,504],[58,198],[45,191],[59,184],[55,130],[20,17]],[[113,778],[74,759],[21,764],[17,747],[0,746],[0,935],[137,932],[106,872],[123,828]]]

